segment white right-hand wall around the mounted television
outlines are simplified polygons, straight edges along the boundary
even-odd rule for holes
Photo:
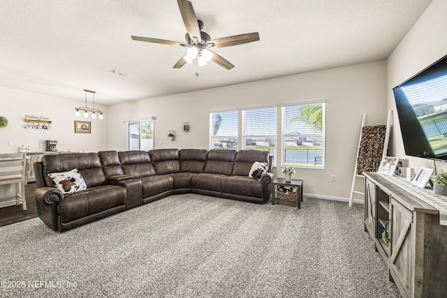
[[[416,171],[422,166],[433,168],[434,162],[405,155],[393,88],[447,54],[446,12],[447,1],[434,0],[387,61],[387,107],[392,109],[395,115],[391,142],[393,155],[409,159],[410,167]],[[447,163],[437,162],[437,168],[447,170]]]

